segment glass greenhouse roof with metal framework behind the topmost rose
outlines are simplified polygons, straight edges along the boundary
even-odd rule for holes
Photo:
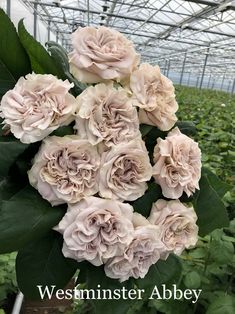
[[[132,40],[142,62],[159,64],[173,79],[178,75],[178,83],[211,87],[216,77],[215,86],[218,81],[235,90],[235,1],[21,1],[47,24],[48,38],[50,32],[59,35],[68,51],[77,27],[105,25]]]

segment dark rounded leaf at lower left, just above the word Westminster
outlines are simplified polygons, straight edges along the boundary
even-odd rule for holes
[[[57,289],[64,288],[73,277],[77,263],[62,253],[63,237],[50,231],[45,237],[19,251],[16,258],[17,282],[22,293],[29,299],[39,299],[38,285]]]

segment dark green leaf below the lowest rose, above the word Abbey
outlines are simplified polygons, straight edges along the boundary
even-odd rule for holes
[[[149,293],[152,292],[155,285],[160,287],[162,284],[170,286],[179,283],[181,273],[182,265],[179,258],[170,254],[166,261],[159,260],[155,265],[152,265],[147,275],[143,279],[137,279],[136,284],[139,288],[145,289],[146,293]]]

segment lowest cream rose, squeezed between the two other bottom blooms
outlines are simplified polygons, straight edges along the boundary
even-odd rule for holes
[[[159,235],[159,228],[156,226],[137,227],[134,239],[124,254],[107,261],[105,274],[110,278],[119,279],[120,282],[130,277],[144,278],[151,265],[166,257],[166,249]]]

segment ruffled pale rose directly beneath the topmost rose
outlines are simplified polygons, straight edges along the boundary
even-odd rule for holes
[[[98,84],[78,96],[77,134],[93,145],[128,142],[139,136],[139,120],[126,92],[112,85]]]

